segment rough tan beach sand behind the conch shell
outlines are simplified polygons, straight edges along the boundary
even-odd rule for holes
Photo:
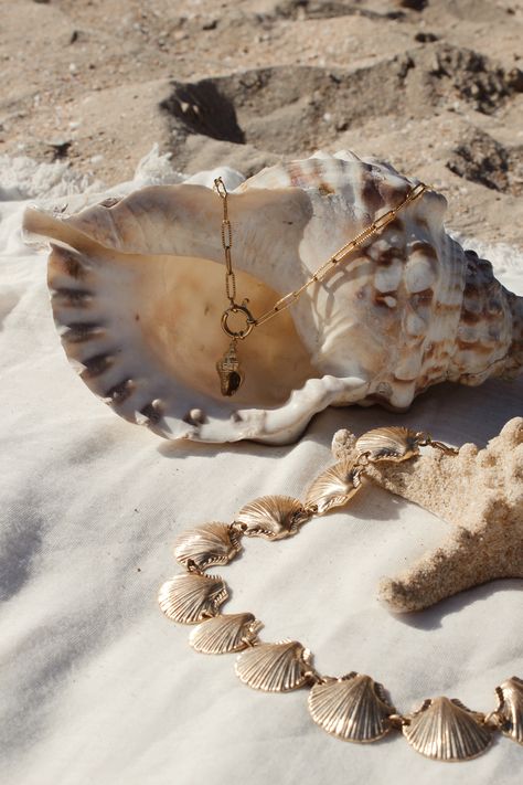
[[[317,149],[438,188],[448,224],[523,245],[521,0],[0,2],[0,155],[111,185],[154,142],[249,176]]]

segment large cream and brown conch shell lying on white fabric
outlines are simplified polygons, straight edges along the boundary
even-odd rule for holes
[[[230,194],[237,299],[256,317],[297,289],[416,184],[351,152],[277,165]],[[292,307],[238,341],[245,383],[221,394],[227,300],[222,203],[210,188],[143,188],[65,219],[28,210],[51,241],[49,284],[70,360],[121,416],[168,438],[284,444],[330,404],[404,411],[431,384],[513,378],[523,298],[442,225],[428,189]]]

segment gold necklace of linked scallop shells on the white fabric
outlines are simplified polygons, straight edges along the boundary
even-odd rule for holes
[[[465,761],[484,752],[498,731],[523,744],[523,680],[512,677],[497,687],[498,708],[487,714],[445,697],[427,699],[419,709],[402,714],[370,676],[354,671],[340,678],[322,676],[299,641],[263,643],[258,638],[262,624],[253,614],[220,614],[227,587],[220,576],[205,573],[210,566],[232,561],[242,537],[279,540],[296,534],[313,516],[344,506],[362,488],[369,465],[416,459],[423,446],[458,454],[426,433],[375,428],[356,441],[353,460],[335,464],[312,481],[303,503],[287,496],[264,496],[245,505],[231,524],[204,523],[184,532],[174,555],[185,573],[167,581],[158,600],[169,618],[198,624],[189,639],[196,651],[242,651],[236,673],[249,687],[268,692],[310,688],[309,712],[328,733],[343,741],[372,742],[401,731],[423,755]]]

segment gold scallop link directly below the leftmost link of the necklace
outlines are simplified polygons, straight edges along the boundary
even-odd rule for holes
[[[189,636],[189,643],[202,654],[230,654],[242,651],[256,640],[262,627],[252,613],[214,616],[202,622]]]

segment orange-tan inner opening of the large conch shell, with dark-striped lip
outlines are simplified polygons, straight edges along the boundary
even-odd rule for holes
[[[76,294],[75,282],[71,280],[73,267],[82,290],[89,291],[88,300],[63,296],[72,287]],[[248,295],[255,314],[270,308],[279,297],[247,273],[238,270],[236,278],[238,293]],[[199,411],[199,420],[205,418],[204,411],[190,405],[194,401],[185,405],[179,393],[174,400],[170,379],[222,406],[270,407],[318,375],[290,314],[282,312],[238,341],[245,383],[232,403],[223,400],[216,361],[230,343],[221,328],[227,300],[224,267],[211,259],[111,252],[110,258],[92,255],[87,264],[82,254],[54,246],[50,286],[55,291],[54,315],[63,330],[66,352],[84,367],[84,381],[113,405],[131,404],[146,417],[149,410],[157,416],[162,401],[160,409],[167,415],[174,406],[178,417],[185,422],[192,422],[194,411]],[[150,383],[154,378],[156,385]],[[138,401],[140,386],[147,381],[150,394]],[[137,401],[129,401],[129,396]]]

